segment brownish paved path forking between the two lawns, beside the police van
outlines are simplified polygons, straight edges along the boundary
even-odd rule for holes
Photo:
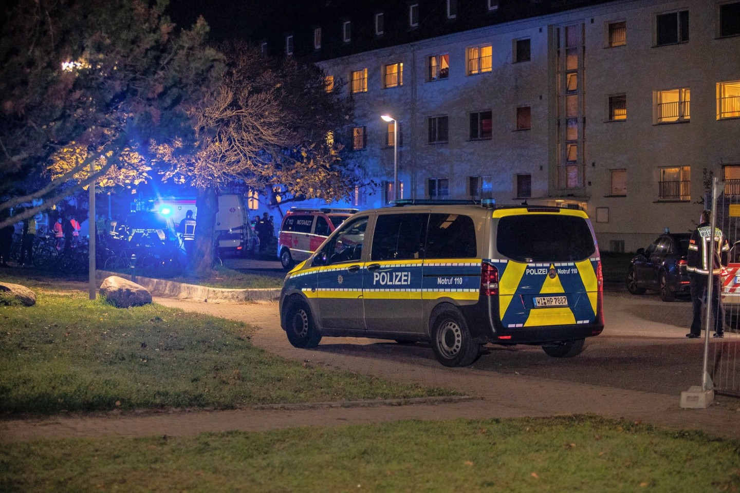
[[[679,395],[525,375],[505,375],[476,370],[475,367],[446,368],[434,360],[431,350],[428,351],[427,361],[411,363],[393,358],[358,356],[357,350],[342,349],[357,349],[357,344],[378,342],[372,339],[324,339],[314,350],[297,350],[289,345],[285,334],[280,330],[277,303],[212,303],[166,298],[155,301],[169,307],[254,324],[258,327],[252,337],[254,344],[286,358],[398,381],[455,388],[466,392],[473,399],[390,406],[336,407],[334,404],[283,409],[146,412],[141,415],[107,413],[57,416],[43,420],[11,420],[0,422],[0,442],[90,435],[195,435],[200,432],[266,430],[306,425],[339,426],[412,418],[509,418],[574,413],[596,413],[658,426],[700,429],[711,435],[740,438],[740,403],[736,399],[729,399],[724,406],[712,406],[709,409],[681,409]],[[674,336],[683,331],[675,328],[670,330],[676,332]],[[350,345],[346,346],[345,343]],[[393,346],[394,344],[388,344],[388,348]]]

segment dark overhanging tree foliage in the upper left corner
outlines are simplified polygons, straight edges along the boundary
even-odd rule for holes
[[[166,4],[13,4],[0,38],[0,211],[44,205],[0,226],[93,180],[147,180],[149,140],[192,132],[186,109],[218,80],[222,56],[206,44],[202,18],[175,30]]]

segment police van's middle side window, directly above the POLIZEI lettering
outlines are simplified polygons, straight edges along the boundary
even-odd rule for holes
[[[408,260],[424,256],[429,214],[380,214],[375,221],[371,260]]]

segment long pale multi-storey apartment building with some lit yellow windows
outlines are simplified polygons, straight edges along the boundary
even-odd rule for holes
[[[262,46],[354,100],[337,137],[378,187],[348,205],[579,207],[603,251],[634,251],[690,231],[710,176],[740,194],[738,0],[322,6]]]

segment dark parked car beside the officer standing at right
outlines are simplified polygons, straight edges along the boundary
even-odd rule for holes
[[[647,248],[638,248],[627,271],[627,290],[642,294],[658,291],[664,302],[689,294],[686,253],[690,233],[665,233]]]

